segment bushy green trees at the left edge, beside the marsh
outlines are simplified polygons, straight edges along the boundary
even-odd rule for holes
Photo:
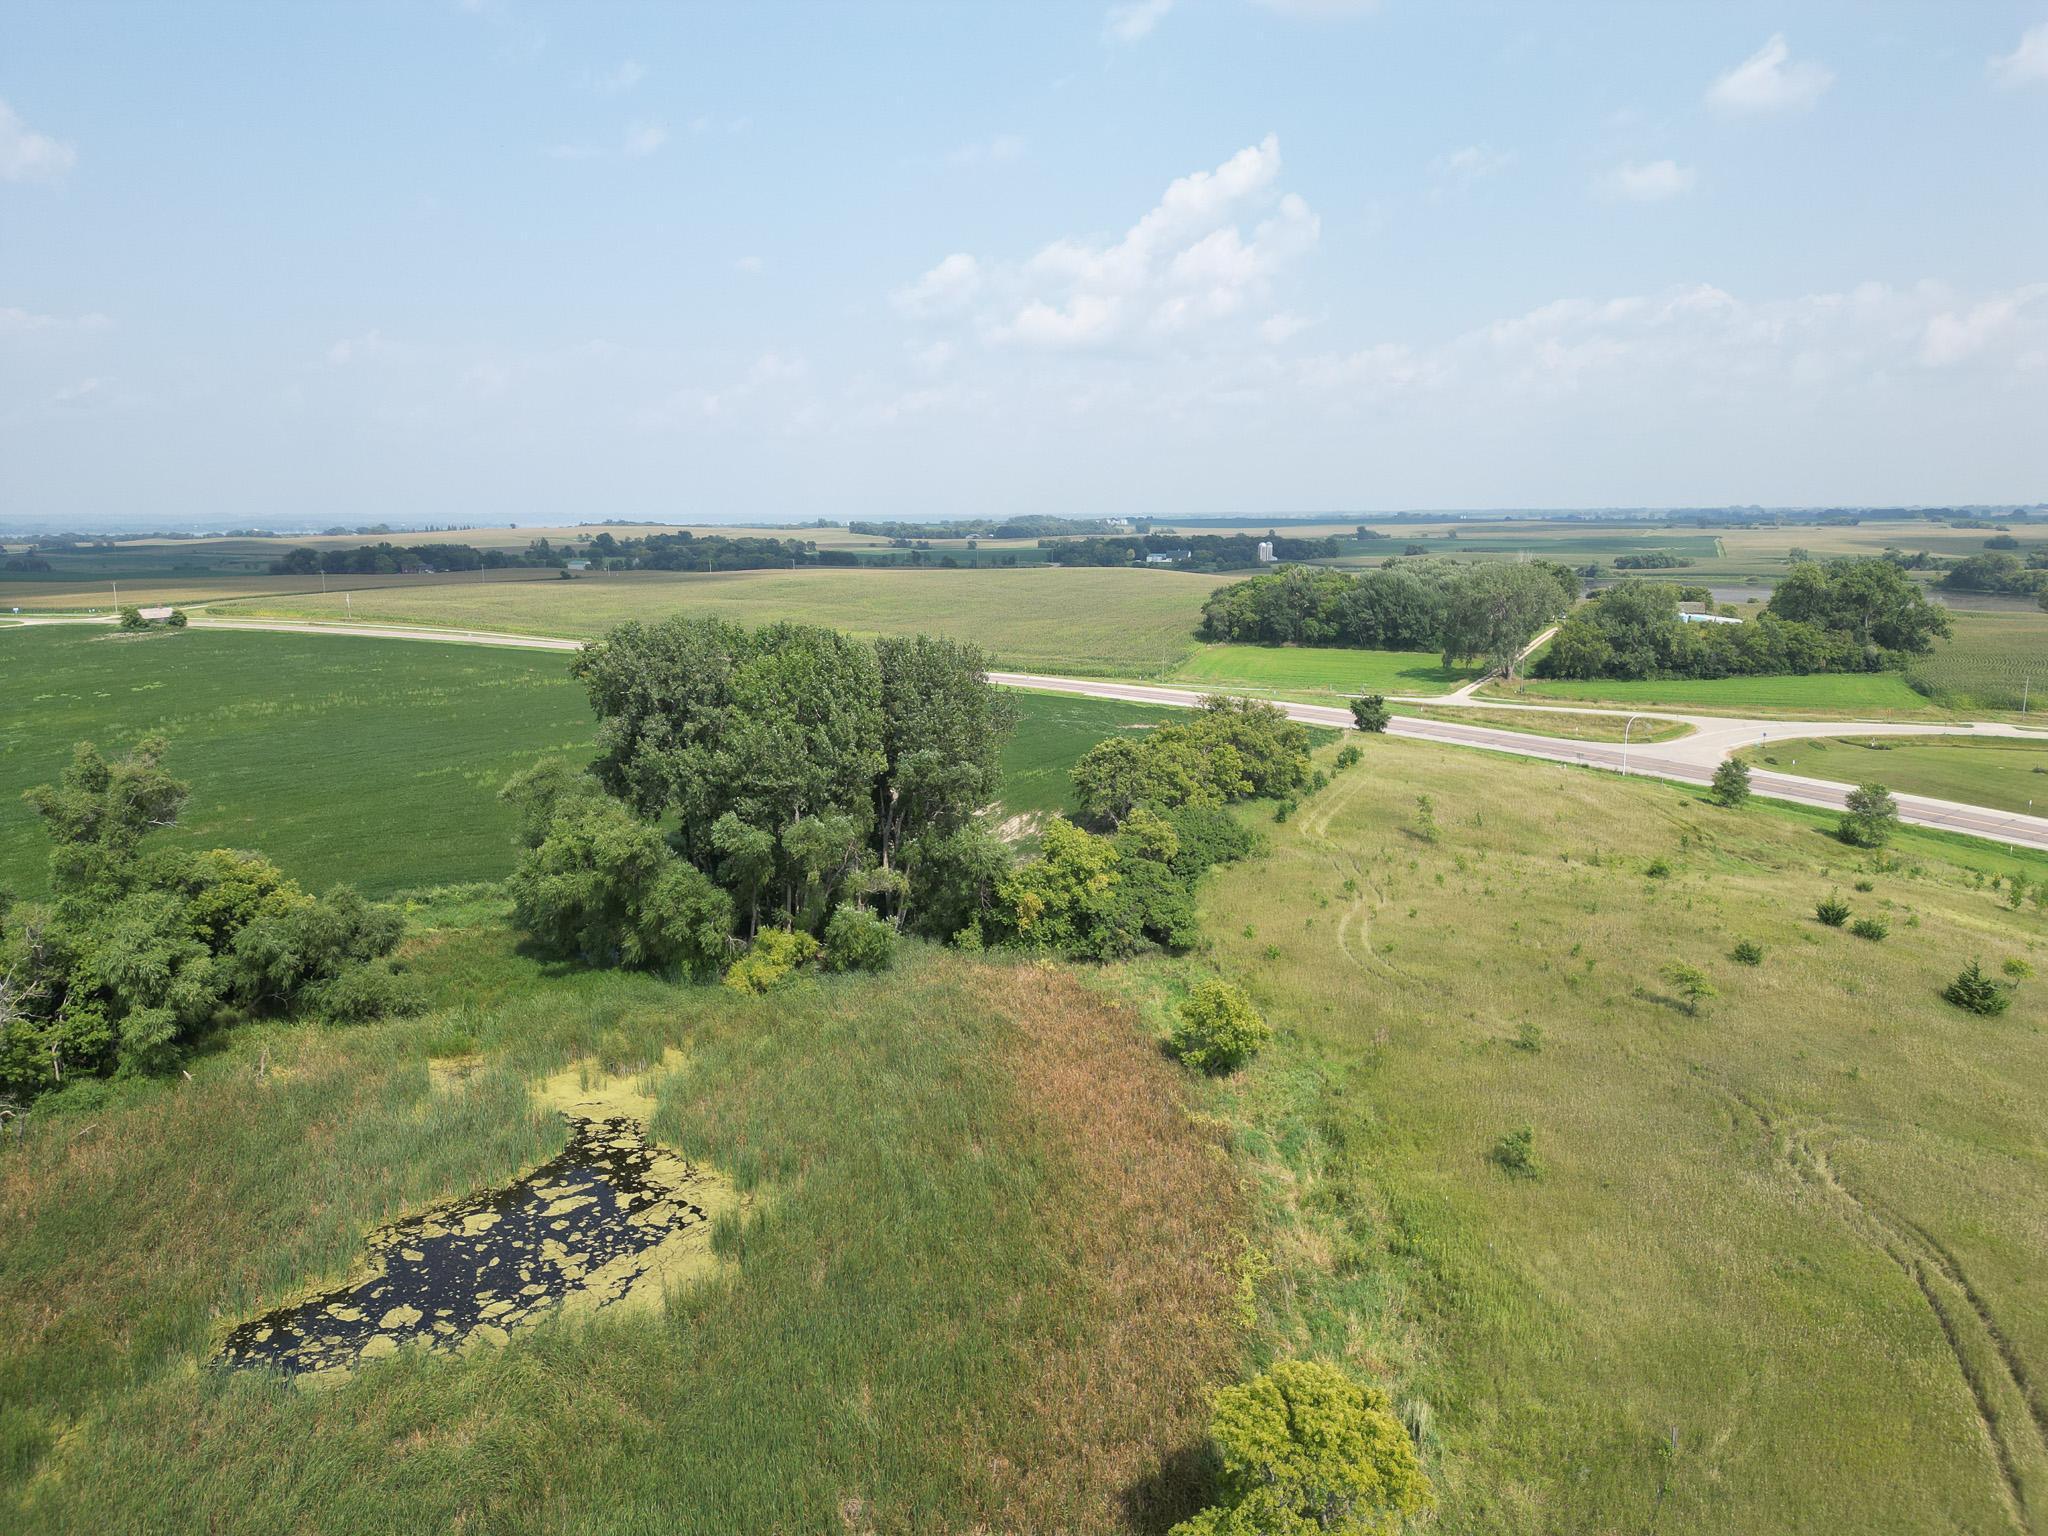
[[[256,1014],[371,1018],[412,1006],[385,956],[401,918],[348,887],[315,897],[260,854],[150,848],[188,786],[166,741],[109,762],[82,743],[29,791],[53,842],[51,901],[0,895],[0,1092],[170,1067]]]

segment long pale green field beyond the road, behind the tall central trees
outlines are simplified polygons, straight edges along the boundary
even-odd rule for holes
[[[522,635],[602,635],[627,618],[793,618],[854,635],[934,633],[987,647],[1014,670],[1155,678],[1194,649],[1202,600],[1231,578],[1141,569],[799,569],[633,573],[578,582],[258,598],[223,616],[446,625]]]

